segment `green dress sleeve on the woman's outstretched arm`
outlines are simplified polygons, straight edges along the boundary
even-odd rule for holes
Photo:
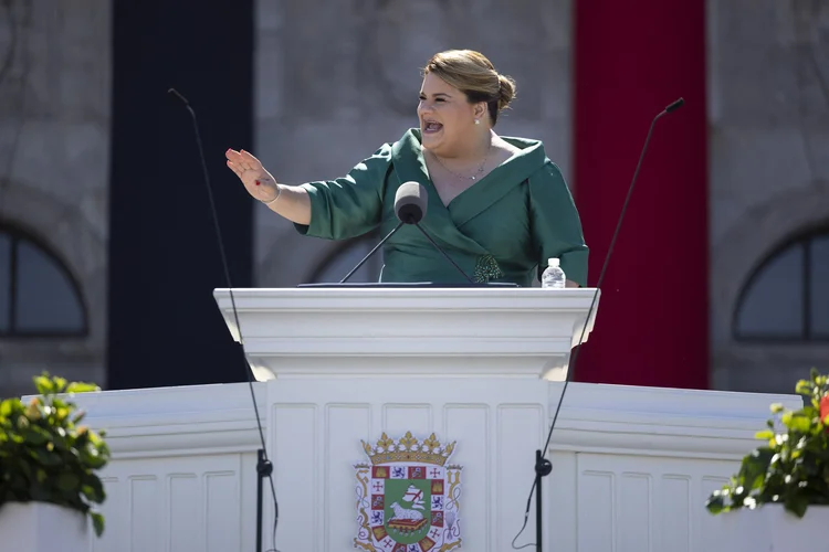
[[[380,223],[390,163],[391,146],[386,144],[345,177],[302,184],[311,199],[311,223],[294,224],[296,231],[325,240],[347,240],[372,230]]]

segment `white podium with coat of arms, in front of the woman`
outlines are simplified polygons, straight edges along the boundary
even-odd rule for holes
[[[592,329],[594,293],[235,289],[234,315],[217,289],[267,381],[279,548],[510,549],[546,438],[549,382],[564,380]],[[408,500],[417,495],[431,502]]]

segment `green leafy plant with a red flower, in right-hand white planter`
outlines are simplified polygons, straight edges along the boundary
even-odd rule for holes
[[[756,434],[764,445],[748,454],[728,484],[709,497],[705,507],[711,513],[781,503],[802,518],[809,506],[829,505],[828,381],[812,370],[810,380],[796,386],[796,393],[807,399],[802,408],[772,405],[783,427],[777,431],[773,418]]]

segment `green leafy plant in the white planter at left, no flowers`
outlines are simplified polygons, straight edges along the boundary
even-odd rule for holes
[[[95,433],[80,425],[84,412],[72,397],[99,391],[94,384],[67,383],[48,373],[34,378],[39,396],[0,403],[0,509],[7,502],[50,502],[92,518],[95,533],[104,517],[94,505],[106,499],[95,474],[109,461],[109,449]],[[60,396],[59,396],[60,395]]]

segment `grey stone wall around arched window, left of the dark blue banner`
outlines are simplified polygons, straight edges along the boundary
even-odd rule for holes
[[[0,222],[57,253],[90,317],[85,339],[0,340],[0,396],[32,392],[31,375],[45,369],[104,383],[109,9],[107,0],[0,7]]]

